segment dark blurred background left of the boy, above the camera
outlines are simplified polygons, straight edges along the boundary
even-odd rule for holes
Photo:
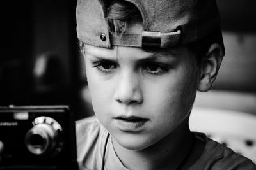
[[[76,103],[76,1],[3,1],[0,8],[0,104]],[[51,57],[36,77],[42,54]]]

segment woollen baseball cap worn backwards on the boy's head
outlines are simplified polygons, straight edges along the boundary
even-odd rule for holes
[[[134,46],[168,48],[209,36],[223,46],[220,14],[215,0],[123,0],[138,8],[141,34],[111,34],[106,20],[106,0],[78,0],[77,36],[88,45],[112,48]],[[224,46],[223,46],[224,50]]]

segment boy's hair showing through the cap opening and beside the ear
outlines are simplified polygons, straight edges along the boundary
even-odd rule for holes
[[[108,30],[111,34],[122,34],[130,25],[143,23],[138,8],[132,3],[120,0],[112,0],[107,4],[106,18]],[[212,41],[209,41],[209,36],[205,36],[205,38],[187,44],[186,47],[189,51],[195,53],[196,62],[201,64],[211,44]],[[80,48],[81,52],[84,53],[84,43],[82,41],[80,41]]]

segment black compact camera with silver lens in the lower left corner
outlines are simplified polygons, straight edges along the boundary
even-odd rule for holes
[[[0,169],[77,169],[68,106],[0,107]]]

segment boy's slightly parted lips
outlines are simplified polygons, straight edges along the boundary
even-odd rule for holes
[[[131,117],[115,117],[115,124],[121,131],[125,132],[138,132],[144,129],[145,123],[148,122],[147,118],[141,118],[136,116]]]

